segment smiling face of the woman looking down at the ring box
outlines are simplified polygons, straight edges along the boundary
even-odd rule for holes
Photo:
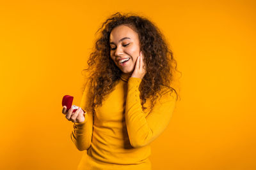
[[[132,74],[136,59],[140,55],[140,41],[137,32],[126,25],[115,27],[109,37],[110,57],[123,72]],[[129,59],[124,61],[124,59]]]

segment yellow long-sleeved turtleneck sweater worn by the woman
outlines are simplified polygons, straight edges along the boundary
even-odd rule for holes
[[[88,112],[88,86],[84,89],[81,108],[84,122],[74,123],[71,139],[84,151],[78,170],[84,169],[151,169],[150,143],[166,129],[176,103],[175,92],[166,92],[150,111],[150,100],[140,103],[140,78],[123,73],[115,89],[95,109]],[[164,89],[164,88],[163,88]]]

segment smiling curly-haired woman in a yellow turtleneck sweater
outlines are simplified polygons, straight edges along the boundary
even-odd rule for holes
[[[84,151],[78,169],[151,169],[150,143],[172,117],[175,59],[147,18],[115,13],[102,27],[88,60],[90,79],[72,114],[71,139]]]

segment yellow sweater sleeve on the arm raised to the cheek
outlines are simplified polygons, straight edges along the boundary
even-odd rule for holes
[[[125,106],[127,132],[134,148],[148,145],[166,129],[176,103],[176,95],[166,92],[146,116],[140,103],[140,83],[140,78],[129,78]]]

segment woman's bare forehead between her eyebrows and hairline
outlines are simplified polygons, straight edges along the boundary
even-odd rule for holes
[[[124,37],[138,39],[138,34],[126,25],[119,25],[111,31],[109,41],[118,43]]]

